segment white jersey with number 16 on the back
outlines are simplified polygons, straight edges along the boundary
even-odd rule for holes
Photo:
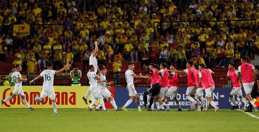
[[[46,69],[44,70],[40,76],[43,77],[43,87],[51,88],[53,87],[54,75],[56,74],[56,70]]]

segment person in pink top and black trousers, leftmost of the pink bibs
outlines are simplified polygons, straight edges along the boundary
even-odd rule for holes
[[[154,97],[158,96],[160,89],[161,89],[161,79],[160,79],[160,75],[156,73],[156,69],[159,69],[159,65],[156,66],[156,64],[151,63],[149,66],[150,72],[148,73],[148,75],[146,76],[142,76],[142,74],[140,73],[140,76],[146,79],[151,79],[151,84],[150,86],[144,91],[144,107],[146,107],[148,109],[148,111],[154,111],[151,109],[151,106],[154,102]],[[147,102],[148,102],[148,94],[151,93],[151,97],[150,97],[150,102],[149,102],[149,106],[147,107]],[[164,111],[164,107],[163,107],[163,102],[159,102],[160,104],[160,111]]]

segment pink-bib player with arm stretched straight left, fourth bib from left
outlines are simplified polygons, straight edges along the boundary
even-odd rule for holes
[[[184,69],[183,71],[179,70],[174,70],[174,73],[187,73],[187,78],[188,78],[188,87],[185,93],[186,99],[191,101],[191,106],[192,103],[195,104],[195,107],[193,107],[191,110],[196,109],[200,105],[200,101],[196,95],[196,90],[197,90],[197,71],[192,67],[193,63],[191,61],[187,61],[186,67],[187,69]]]

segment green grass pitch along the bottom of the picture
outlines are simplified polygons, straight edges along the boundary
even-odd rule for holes
[[[259,119],[237,110],[208,112],[92,111],[87,109],[0,109],[1,131],[258,131]],[[259,113],[251,114],[259,117]]]

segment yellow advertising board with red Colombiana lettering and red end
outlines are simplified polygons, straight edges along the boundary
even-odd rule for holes
[[[56,93],[56,101],[58,108],[87,108],[88,105],[82,100],[82,97],[85,96],[89,86],[54,86]],[[22,86],[22,90],[26,96],[26,100],[31,107],[34,108],[52,108],[52,103],[50,98],[46,97],[44,102],[34,102],[36,94],[40,95],[42,86]],[[14,87],[10,86],[0,86],[0,96],[1,99],[5,99],[7,96],[12,95]],[[111,88],[111,93],[115,95],[115,87]],[[88,96],[90,100],[91,96]],[[99,100],[97,103],[98,104]],[[113,108],[108,101],[105,106],[107,108]],[[12,100],[8,100],[0,108],[25,108],[25,105],[22,102],[20,96],[16,96]]]

